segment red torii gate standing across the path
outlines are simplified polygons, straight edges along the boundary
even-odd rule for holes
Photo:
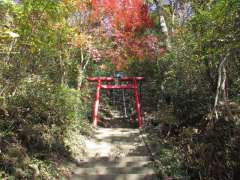
[[[109,85],[109,84],[102,84],[102,82],[113,82],[116,79],[119,81],[128,82],[128,84],[117,84],[117,85]],[[138,89],[138,81],[143,81],[144,77],[89,77],[88,81],[90,82],[97,82],[96,88],[96,99],[94,103],[94,112],[93,112],[93,126],[97,127],[98,120],[99,120],[99,104],[100,104],[100,90],[101,89],[133,89],[136,99],[136,111],[137,111],[137,118],[138,118],[138,127],[142,127],[142,115],[141,115],[141,104],[140,104],[140,95]]]

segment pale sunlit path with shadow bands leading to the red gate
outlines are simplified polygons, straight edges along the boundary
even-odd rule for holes
[[[97,128],[86,142],[88,157],[73,168],[73,180],[157,180],[139,130]]]

